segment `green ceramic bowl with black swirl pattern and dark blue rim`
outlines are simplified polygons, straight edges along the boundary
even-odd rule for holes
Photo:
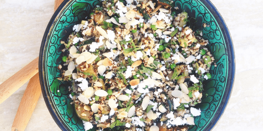
[[[73,25],[79,23],[90,13],[98,0],[65,0],[51,18],[41,44],[39,54],[39,77],[42,93],[54,121],[63,131],[84,131],[82,121],[77,117],[72,100],[68,97],[68,86],[56,78],[57,69],[62,62],[63,48],[60,40],[65,40],[72,32]],[[229,101],[235,74],[235,56],[228,28],[209,0],[175,0],[180,11],[185,10],[194,17],[197,24],[193,30],[203,30],[203,37],[209,40],[209,49],[214,55],[217,66],[212,66],[212,79],[205,82],[207,97],[197,105],[202,113],[195,117],[195,126],[190,131],[209,131],[222,116]],[[202,23],[210,26],[204,28]]]

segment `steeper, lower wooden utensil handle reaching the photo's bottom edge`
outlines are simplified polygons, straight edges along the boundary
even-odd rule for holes
[[[27,85],[23,98],[20,102],[15,119],[12,125],[12,131],[25,130],[27,123],[37,105],[41,94],[39,83],[39,73],[32,77]]]

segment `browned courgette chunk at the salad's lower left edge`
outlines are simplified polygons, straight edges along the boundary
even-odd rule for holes
[[[93,115],[92,111],[86,111],[84,105],[79,105],[77,103],[75,103],[75,111],[78,117],[83,121],[89,121]]]

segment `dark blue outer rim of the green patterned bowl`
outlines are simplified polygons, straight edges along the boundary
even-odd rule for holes
[[[54,119],[54,121],[56,122],[56,124],[58,125],[58,127],[63,130],[63,131],[68,131],[70,129],[68,129],[68,127],[65,125],[65,123],[62,122],[62,119],[60,117],[58,117],[58,115],[55,112],[55,107],[53,105],[51,105],[49,97],[47,96],[47,92],[46,89],[48,89],[46,83],[44,82],[44,70],[43,70],[43,58],[44,58],[44,47],[45,47],[45,43],[46,43],[46,38],[48,36],[49,30],[51,29],[51,26],[53,24],[53,22],[56,19],[56,16],[60,13],[60,11],[63,9],[63,7],[71,0],[64,0],[60,6],[57,8],[57,10],[55,11],[55,13],[52,15],[42,42],[41,42],[41,47],[40,47],[40,53],[39,53],[39,80],[40,80],[40,84],[41,84],[41,90],[42,90],[42,95],[44,97],[46,106],[52,116],[52,118]],[[229,102],[229,98],[231,96],[231,92],[232,92],[232,88],[233,88],[233,84],[234,84],[234,78],[235,78],[235,70],[236,70],[236,65],[235,65],[235,53],[234,53],[234,47],[233,47],[233,42],[232,42],[232,38],[229,32],[229,29],[227,28],[225,21],[223,19],[223,17],[221,16],[221,14],[218,12],[217,8],[212,4],[212,2],[210,0],[200,0],[201,2],[204,3],[204,5],[210,10],[210,12],[214,15],[215,19],[217,20],[219,27],[222,29],[223,35],[224,35],[224,40],[226,41],[226,49],[227,52],[229,53],[229,55],[227,56],[229,59],[229,70],[228,70],[228,78],[227,78],[227,83],[226,83],[226,91],[223,97],[222,102],[219,105],[219,108],[217,109],[217,117],[212,118],[212,120],[210,121],[210,124],[206,127],[206,130],[212,130],[214,128],[214,126],[218,123],[219,119],[222,117],[222,114],[224,113],[225,109],[226,109],[226,105]]]

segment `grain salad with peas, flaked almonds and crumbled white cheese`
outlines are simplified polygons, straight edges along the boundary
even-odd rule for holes
[[[214,61],[172,1],[105,0],[73,27],[61,81],[85,130],[170,131],[195,125]]]

